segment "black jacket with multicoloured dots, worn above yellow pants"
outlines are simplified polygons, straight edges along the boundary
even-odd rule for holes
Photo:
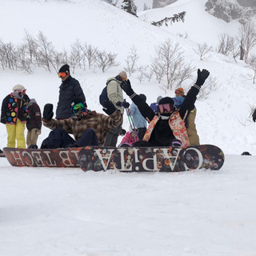
[[[17,118],[21,122],[26,122],[30,118],[29,112],[26,109],[24,99],[14,97],[14,94],[9,94],[2,101],[1,122],[7,124],[16,124]]]

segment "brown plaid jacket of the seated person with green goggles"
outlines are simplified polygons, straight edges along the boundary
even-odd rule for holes
[[[100,145],[104,145],[107,132],[122,123],[122,114],[118,110],[115,110],[110,116],[90,111],[89,114],[86,114],[81,119],[74,117],[62,120],[51,119],[49,121],[42,119],[42,121],[43,125],[51,130],[61,127],[67,133],[74,134],[75,140],[81,138],[86,129],[91,128],[94,130]]]

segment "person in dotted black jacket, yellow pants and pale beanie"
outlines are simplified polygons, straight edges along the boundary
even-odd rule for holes
[[[26,148],[24,131],[30,115],[22,94],[24,89],[25,87],[20,84],[14,86],[13,92],[2,101],[1,122],[6,125],[7,147]]]

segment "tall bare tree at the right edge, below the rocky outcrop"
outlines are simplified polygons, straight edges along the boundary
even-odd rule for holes
[[[248,63],[250,50],[256,45],[256,26],[253,22],[242,23],[239,27],[239,39],[244,50],[245,62]]]

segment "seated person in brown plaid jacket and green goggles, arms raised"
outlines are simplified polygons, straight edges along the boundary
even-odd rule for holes
[[[104,145],[107,132],[122,123],[122,114],[116,110],[113,103],[110,101],[104,103],[103,110],[109,116],[88,110],[81,98],[74,98],[71,110],[75,116],[62,120],[53,119],[53,105],[46,104],[42,121],[43,125],[52,131],[42,142],[41,149]],[[75,140],[69,134],[74,134]]]

